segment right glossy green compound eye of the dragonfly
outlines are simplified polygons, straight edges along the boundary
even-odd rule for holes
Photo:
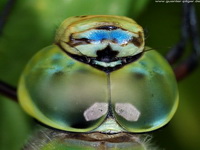
[[[177,83],[169,64],[157,52],[145,52],[110,77],[116,121],[127,131],[153,131],[171,120],[178,106]]]

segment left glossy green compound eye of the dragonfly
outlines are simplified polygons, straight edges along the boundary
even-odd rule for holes
[[[22,107],[40,122],[56,129],[86,132],[106,117],[106,90],[105,73],[50,46],[28,63],[18,95]]]

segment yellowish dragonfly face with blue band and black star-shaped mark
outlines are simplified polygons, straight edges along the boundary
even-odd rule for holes
[[[129,63],[127,57],[142,53],[144,33],[127,17],[79,16],[62,23],[55,43],[75,59],[102,69]]]

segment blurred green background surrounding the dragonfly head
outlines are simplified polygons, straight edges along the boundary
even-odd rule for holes
[[[0,0],[0,10],[6,0]],[[196,3],[200,21],[200,4]],[[111,14],[135,19],[146,45],[163,55],[180,38],[181,4],[153,0],[17,0],[0,36],[0,79],[16,86],[25,64],[50,45],[59,24],[69,16]],[[200,23],[199,23],[200,24]],[[200,149],[200,69],[179,82],[180,105],[172,121],[151,133],[166,150]],[[19,150],[36,123],[20,106],[0,96],[0,149]]]

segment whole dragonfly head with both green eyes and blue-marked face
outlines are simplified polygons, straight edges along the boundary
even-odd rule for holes
[[[129,18],[68,18],[55,44],[26,66],[20,103],[37,120],[65,131],[158,129],[174,115],[178,90],[166,60],[145,49],[142,27]]]

